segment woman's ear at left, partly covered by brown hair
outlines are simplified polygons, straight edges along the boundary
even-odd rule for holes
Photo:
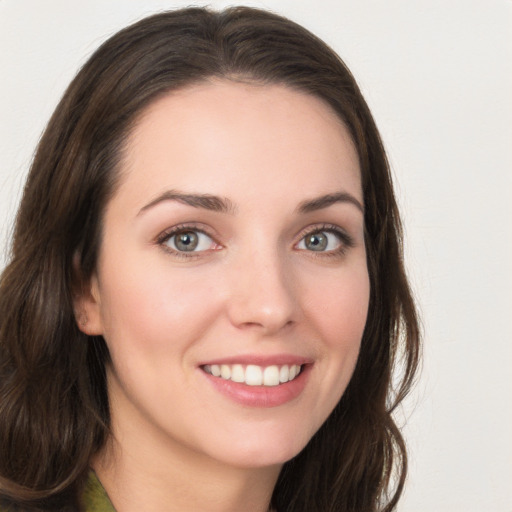
[[[74,262],[75,276],[80,275],[77,259]],[[103,334],[101,317],[101,294],[98,278],[93,274],[90,279],[77,279],[73,290],[73,310],[78,328],[88,336]]]

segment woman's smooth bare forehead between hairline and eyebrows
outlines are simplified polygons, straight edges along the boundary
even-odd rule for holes
[[[139,193],[169,187],[229,195],[230,185],[310,195],[349,189],[361,199],[349,132],[321,99],[281,85],[225,80],[174,91],[132,130],[121,180]],[[281,190],[282,193],[282,190]]]

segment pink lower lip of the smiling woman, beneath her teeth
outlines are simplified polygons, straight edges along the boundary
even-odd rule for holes
[[[310,367],[309,364],[304,365],[295,379],[278,386],[248,386],[201,371],[217,391],[236,403],[248,407],[278,407],[295,400],[302,393],[309,377]]]

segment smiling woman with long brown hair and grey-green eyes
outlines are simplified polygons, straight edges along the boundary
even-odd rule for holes
[[[1,279],[6,506],[392,510],[419,351],[400,241],[368,107],[305,29],[192,8],[113,36]]]

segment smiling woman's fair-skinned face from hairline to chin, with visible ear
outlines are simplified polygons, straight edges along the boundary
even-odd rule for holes
[[[358,356],[362,208],[351,138],[315,97],[215,81],[152,104],[78,305],[111,354],[121,445],[236,467],[296,455]]]

